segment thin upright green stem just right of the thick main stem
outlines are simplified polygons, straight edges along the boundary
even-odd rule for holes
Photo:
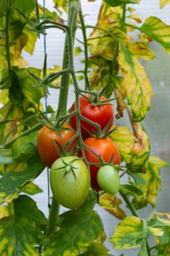
[[[85,30],[85,22],[83,19],[83,13],[81,9],[81,3],[79,5],[79,18],[81,22],[81,29],[83,32],[83,41],[84,41],[84,52],[85,52],[85,70],[84,70],[84,75],[85,75],[85,90],[87,90],[87,71],[88,71],[88,63],[89,63],[89,58],[88,58],[88,48],[87,48],[87,35],[86,35],[86,30]]]

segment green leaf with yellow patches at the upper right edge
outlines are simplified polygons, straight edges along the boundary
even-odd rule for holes
[[[142,32],[159,42],[165,51],[170,48],[170,26],[162,22],[159,18],[151,16],[147,18],[140,27]]]

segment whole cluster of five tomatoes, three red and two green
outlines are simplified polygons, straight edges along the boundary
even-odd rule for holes
[[[71,113],[75,108],[74,102]],[[120,153],[114,141],[107,136],[114,123],[112,104],[103,96],[99,98],[98,103],[93,102],[91,96],[86,94],[85,97],[79,97],[79,109],[83,149],[80,145],[78,156],[60,157],[61,148],[58,147],[58,144],[65,147],[70,141],[66,144],[66,154],[74,148],[76,139],[73,136],[77,133],[77,115],[71,115],[69,123],[62,126],[67,129],[61,127],[58,132],[57,129],[44,126],[38,135],[38,153],[42,162],[51,168],[50,186],[54,198],[61,205],[71,209],[79,207],[85,201],[90,187],[89,173],[91,187],[95,191],[104,190],[116,195],[120,188],[119,175],[113,165],[120,165]],[[88,162],[89,170],[80,159],[82,157]]]

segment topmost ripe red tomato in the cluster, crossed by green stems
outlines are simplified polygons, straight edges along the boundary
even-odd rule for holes
[[[85,95],[87,98],[90,98],[90,95]],[[99,99],[100,101],[107,100],[104,96],[101,96]],[[107,102],[103,105],[95,105],[93,106],[91,102],[89,102],[86,98],[83,96],[79,97],[79,103],[80,103],[80,112],[83,117],[86,117],[90,121],[93,121],[95,123],[98,123],[101,127],[101,131],[103,128],[110,122],[110,125],[107,129],[107,131],[110,131],[112,124],[114,123],[114,110],[112,106],[110,105],[110,102]],[[75,111],[75,102],[71,106],[71,112]],[[77,118],[76,115],[73,115],[70,117],[69,122],[73,129],[77,131]],[[90,133],[94,134],[97,129],[91,125],[90,123],[81,120],[81,135],[88,135],[87,129]],[[83,128],[85,127],[85,129]]]

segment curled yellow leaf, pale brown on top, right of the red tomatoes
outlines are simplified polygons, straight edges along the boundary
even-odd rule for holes
[[[150,154],[150,143],[144,127],[142,127],[140,123],[134,123],[134,127],[138,137],[135,139],[134,146],[129,153],[132,158],[130,163],[128,163],[128,168],[130,168],[132,172],[145,172],[144,165]]]

